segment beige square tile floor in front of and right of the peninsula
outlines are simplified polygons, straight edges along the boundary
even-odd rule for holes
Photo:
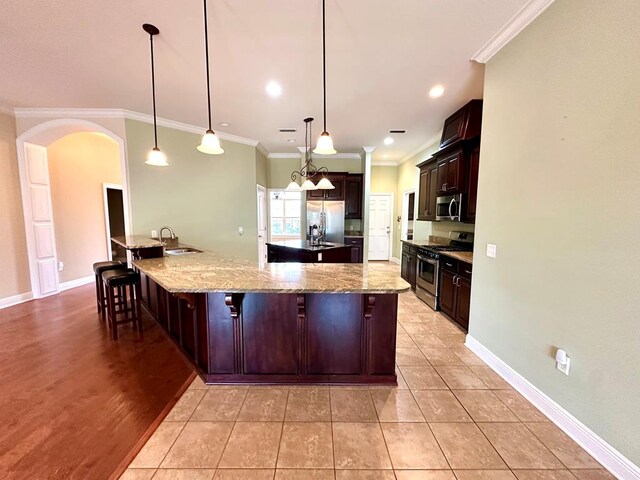
[[[614,478],[446,317],[411,292],[398,312],[397,388],[196,379],[121,480]]]

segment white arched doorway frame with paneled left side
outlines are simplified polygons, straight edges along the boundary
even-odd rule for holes
[[[16,139],[20,187],[25,220],[29,274],[34,298],[60,291],[47,147],[67,135],[93,132],[117,144],[121,168],[125,233],[130,232],[131,210],[124,139],[97,123],[58,119],[41,123]]]

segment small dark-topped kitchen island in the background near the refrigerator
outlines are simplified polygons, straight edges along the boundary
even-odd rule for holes
[[[351,263],[351,245],[320,243],[308,240],[267,242],[267,262]]]

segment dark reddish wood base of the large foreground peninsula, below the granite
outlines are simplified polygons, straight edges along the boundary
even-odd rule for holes
[[[397,293],[170,293],[143,305],[207,383],[397,385]]]

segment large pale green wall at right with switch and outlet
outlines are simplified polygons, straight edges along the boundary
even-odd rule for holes
[[[557,1],[488,63],[469,330],[636,465],[638,32],[635,0]]]

